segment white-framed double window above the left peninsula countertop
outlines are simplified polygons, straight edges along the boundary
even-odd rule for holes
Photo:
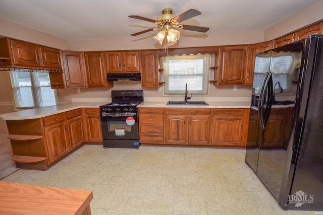
[[[50,88],[47,72],[10,71],[17,108],[44,107],[57,104],[56,92]]]

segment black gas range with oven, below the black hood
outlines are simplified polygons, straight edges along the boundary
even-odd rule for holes
[[[143,102],[143,91],[112,91],[111,97],[112,103],[100,106],[103,147],[138,149],[137,105]]]

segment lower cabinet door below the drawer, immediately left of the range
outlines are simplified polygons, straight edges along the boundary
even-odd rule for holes
[[[101,119],[99,114],[86,114],[87,134],[89,142],[103,142]]]

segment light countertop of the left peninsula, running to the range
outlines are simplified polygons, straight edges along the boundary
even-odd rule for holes
[[[52,105],[47,107],[33,108],[28,110],[16,111],[0,115],[3,120],[24,120],[38,119],[45,116],[50,116],[57,113],[75,110],[78,108],[98,108],[106,102],[72,102],[66,104]]]

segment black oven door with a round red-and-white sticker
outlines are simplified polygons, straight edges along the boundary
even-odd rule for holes
[[[139,139],[136,113],[101,113],[103,139]]]

